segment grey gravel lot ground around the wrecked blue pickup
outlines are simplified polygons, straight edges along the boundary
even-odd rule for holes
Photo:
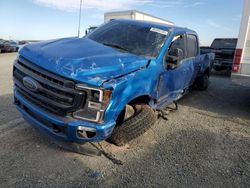
[[[15,54],[0,54],[0,187],[250,187],[250,88],[212,76],[126,147],[123,165],[58,148],[12,105]]]

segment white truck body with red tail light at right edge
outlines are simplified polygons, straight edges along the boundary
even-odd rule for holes
[[[239,79],[240,78],[240,79]],[[232,69],[233,81],[250,85],[250,0],[245,0]]]

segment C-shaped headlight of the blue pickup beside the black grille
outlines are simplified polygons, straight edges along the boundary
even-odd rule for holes
[[[104,112],[110,101],[111,90],[86,87],[82,84],[77,84],[76,89],[86,91],[87,99],[82,109],[73,113],[73,117],[102,123]]]

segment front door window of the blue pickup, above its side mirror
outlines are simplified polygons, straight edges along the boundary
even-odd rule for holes
[[[176,35],[171,44],[170,47],[168,49],[168,55],[171,56],[176,56],[175,52],[176,49],[180,49],[183,52],[183,57],[182,59],[185,57],[185,38],[184,35]]]

